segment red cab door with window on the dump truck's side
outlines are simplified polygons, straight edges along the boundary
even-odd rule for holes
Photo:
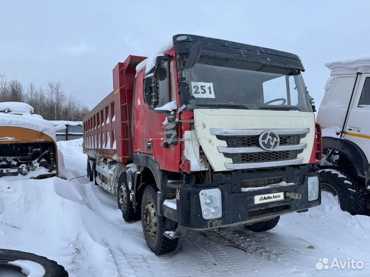
[[[166,138],[166,126],[164,122],[168,114],[171,113],[171,106],[175,109],[177,108],[174,60],[162,62],[158,66],[158,105],[156,108],[150,106],[147,111],[145,133],[146,153],[152,154],[155,157],[161,169],[178,172],[180,160],[179,144],[163,146]],[[166,107],[170,107],[170,110]]]

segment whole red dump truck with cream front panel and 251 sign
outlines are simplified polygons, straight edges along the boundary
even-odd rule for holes
[[[83,118],[90,181],[141,219],[155,254],[186,230],[245,226],[321,203],[321,128],[297,55],[190,34],[113,69]],[[292,228],[294,228],[292,226]]]

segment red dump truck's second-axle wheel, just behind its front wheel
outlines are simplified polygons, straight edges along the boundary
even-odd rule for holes
[[[122,217],[125,221],[138,220],[138,213],[135,212],[132,201],[130,200],[130,189],[128,189],[126,174],[122,173],[118,179],[117,186],[118,208],[122,211]]]

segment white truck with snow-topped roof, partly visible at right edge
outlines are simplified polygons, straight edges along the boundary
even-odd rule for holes
[[[366,213],[370,161],[370,57],[325,64],[331,70],[317,121],[323,128],[323,189],[342,209]],[[351,203],[354,202],[354,203]]]

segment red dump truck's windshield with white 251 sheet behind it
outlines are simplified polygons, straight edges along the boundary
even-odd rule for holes
[[[300,110],[312,112],[298,70],[201,57],[182,76],[190,85],[194,108]]]

